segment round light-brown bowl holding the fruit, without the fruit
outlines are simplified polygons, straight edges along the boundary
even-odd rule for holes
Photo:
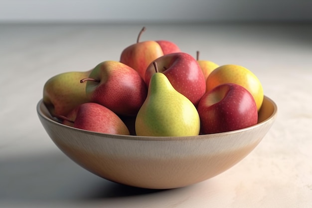
[[[246,157],[277,116],[265,96],[258,124],[231,132],[188,137],[102,134],[54,121],[42,100],[39,119],[56,146],[86,170],[107,180],[148,189],[171,189],[214,177]]]

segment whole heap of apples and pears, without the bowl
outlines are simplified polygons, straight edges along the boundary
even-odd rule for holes
[[[64,72],[44,85],[43,103],[57,121],[89,131],[138,136],[195,136],[257,124],[264,94],[239,65],[217,65],[171,41],[126,47],[119,61]]]

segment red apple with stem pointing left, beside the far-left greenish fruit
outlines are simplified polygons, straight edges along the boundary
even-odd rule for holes
[[[147,86],[130,66],[118,61],[104,61],[91,72],[86,92],[90,102],[99,103],[118,115],[134,116],[147,96]]]

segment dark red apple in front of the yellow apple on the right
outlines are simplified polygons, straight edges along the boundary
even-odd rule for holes
[[[198,103],[201,134],[228,132],[258,122],[256,102],[244,87],[226,83],[206,92]]]

